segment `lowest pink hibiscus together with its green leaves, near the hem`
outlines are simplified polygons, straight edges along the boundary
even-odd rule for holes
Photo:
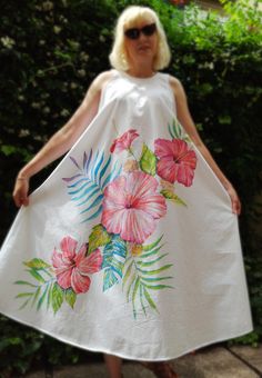
[[[54,248],[52,263],[40,258],[23,262],[34,281],[14,282],[28,287],[29,290],[17,296],[24,300],[20,308],[31,304],[39,310],[46,304],[47,308],[51,307],[56,314],[64,301],[73,308],[77,296],[90,289],[90,275],[102,268],[101,251],[95,248],[87,256],[89,246],[82,245],[78,250],[78,241],[70,236],[62,238],[60,249],[59,251]]]

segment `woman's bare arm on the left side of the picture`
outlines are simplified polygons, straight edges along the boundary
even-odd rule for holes
[[[94,79],[82,103],[69,121],[19,171],[13,189],[13,200],[18,207],[29,203],[28,190],[30,177],[64,155],[93,120],[98,112],[101,90],[111,78],[111,71],[107,71]]]

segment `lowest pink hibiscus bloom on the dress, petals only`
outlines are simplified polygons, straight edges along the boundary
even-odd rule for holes
[[[77,253],[77,240],[72,238],[63,238],[60,243],[61,252],[57,249],[53,251],[52,263],[58,285],[80,294],[89,290],[91,280],[88,275],[101,269],[102,256],[97,249],[87,257],[87,245],[82,245]]]

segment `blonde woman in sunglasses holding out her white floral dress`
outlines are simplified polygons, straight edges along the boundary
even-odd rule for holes
[[[16,309],[2,311],[67,342],[103,351],[111,378],[121,377],[120,357],[144,361],[158,377],[175,377],[163,360],[252,329],[235,219],[241,211],[240,199],[203,145],[181,82],[158,72],[169,60],[165,34],[155,12],[144,7],[125,9],[118,20],[110,54],[115,69],[97,77],[72,118],[20,170],[13,190],[18,207],[32,203],[23,208],[18,226],[11,229],[7,250],[23,232],[34,235],[27,251],[34,240],[39,250],[50,250],[61,229],[63,235],[66,230],[70,235],[59,239],[60,249],[56,241],[51,270],[42,259],[39,262],[41,253],[38,260],[27,262],[34,275],[36,270],[41,273],[47,269],[53,277],[52,284],[42,278],[51,299],[46,299],[40,288],[42,300],[37,297],[32,306],[38,302],[40,308],[44,300],[50,301],[54,314],[63,315],[57,318],[57,324],[64,322],[63,330],[47,326],[52,320],[46,317],[42,324],[31,312],[28,321]],[[83,133],[87,125],[90,129]],[[95,156],[92,145],[93,150],[98,147]],[[82,169],[77,175],[69,173],[66,158],[29,199],[29,179],[71,148],[77,169],[81,168],[81,153],[88,151],[83,153]],[[101,150],[110,155],[108,160]],[[74,203],[63,205],[62,195],[58,195],[61,187],[56,189],[58,172],[72,201],[82,209],[77,225]],[[88,187],[87,180],[94,177],[97,183]],[[98,181],[102,188],[99,196]],[[27,211],[32,215],[27,216]],[[41,231],[33,229],[36,223]],[[85,228],[89,243],[78,251],[75,235],[83,241]],[[162,238],[165,253],[161,251]],[[102,276],[92,276],[89,290],[88,275],[102,269],[101,295]],[[120,282],[127,302],[119,291]],[[79,326],[87,321],[81,317],[85,306],[75,300],[88,290],[89,321],[79,332],[73,319]],[[63,301],[72,309],[79,306],[73,315],[62,306]],[[241,317],[233,315],[236,310]],[[238,324],[224,319],[229,311],[229,319],[238,318]],[[72,321],[71,332],[67,331],[67,317]]]

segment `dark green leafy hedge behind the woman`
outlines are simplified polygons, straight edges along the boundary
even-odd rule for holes
[[[193,119],[222,170],[238,188],[244,263],[254,332],[233,340],[256,345],[262,336],[261,240],[261,12],[239,0],[224,1],[226,18],[181,11],[169,1],[0,1],[0,239],[17,209],[16,175],[82,100],[91,80],[109,69],[112,30],[128,4],[148,4],[164,24],[172,50],[168,72],[188,93]],[[56,162],[57,165],[57,162]],[[32,189],[56,165],[32,179]],[[18,251],[19,253],[19,246]],[[27,371],[48,364],[77,362],[84,352],[0,316],[0,370]]]

